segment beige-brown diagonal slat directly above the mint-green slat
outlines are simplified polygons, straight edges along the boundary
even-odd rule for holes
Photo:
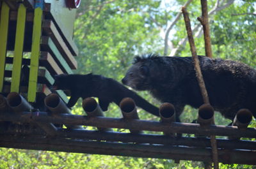
[[[63,57],[65,57],[65,60],[67,61],[70,68],[77,69],[76,59],[71,54],[52,20],[44,20],[42,28],[45,30],[47,35],[51,36],[52,41],[54,41],[56,47],[60,50],[60,53],[63,55]]]

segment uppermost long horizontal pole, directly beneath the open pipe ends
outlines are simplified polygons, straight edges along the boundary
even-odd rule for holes
[[[99,128],[120,128],[120,129],[135,129],[143,131],[161,131],[172,133],[188,133],[196,135],[218,135],[232,136],[237,135],[245,138],[256,138],[256,129],[247,128],[241,131],[236,126],[220,126],[210,125],[201,128],[199,124],[172,122],[171,124],[163,124],[157,121],[132,120],[131,122],[124,119],[111,117],[86,117],[83,115],[60,114],[58,117],[49,116],[45,112],[22,112],[20,116],[13,114],[0,114],[0,119],[3,121],[12,122],[52,122],[53,124],[70,124],[95,126]]]

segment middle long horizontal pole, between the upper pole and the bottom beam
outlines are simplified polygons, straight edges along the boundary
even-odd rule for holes
[[[1,135],[16,135],[16,136],[46,136],[40,128],[30,128],[21,125],[9,125],[7,129],[0,129]],[[166,135],[141,134],[132,135],[131,133],[109,132],[104,133],[95,130],[86,129],[63,129],[58,128],[58,138],[68,139],[84,139],[97,140],[107,142],[125,142],[125,143],[150,143],[163,145],[180,145],[188,147],[209,148],[211,142],[209,138],[181,137],[171,138]],[[217,138],[218,147],[222,149],[247,149],[256,150],[256,142],[250,140],[228,140]]]

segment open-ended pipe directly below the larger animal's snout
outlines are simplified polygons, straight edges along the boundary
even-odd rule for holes
[[[122,115],[125,120],[135,120],[140,119],[137,113],[137,108],[134,100],[132,98],[124,98],[119,104],[119,107],[122,111]],[[132,130],[130,129],[131,133],[139,134],[143,133],[140,130]]]

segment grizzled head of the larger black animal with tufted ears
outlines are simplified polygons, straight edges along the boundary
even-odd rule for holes
[[[136,56],[133,65],[122,79],[122,83],[138,91],[152,89],[154,78],[159,75],[159,68],[154,63],[154,59],[156,58],[157,55],[154,54],[143,55],[141,57]]]

